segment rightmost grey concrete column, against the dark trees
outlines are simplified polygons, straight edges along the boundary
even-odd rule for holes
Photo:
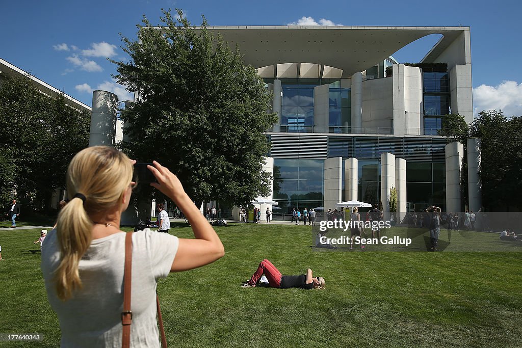
[[[468,139],[468,191],[469,210],[477,213],[482,208],[482,182],[480,179],[480,138]]]

